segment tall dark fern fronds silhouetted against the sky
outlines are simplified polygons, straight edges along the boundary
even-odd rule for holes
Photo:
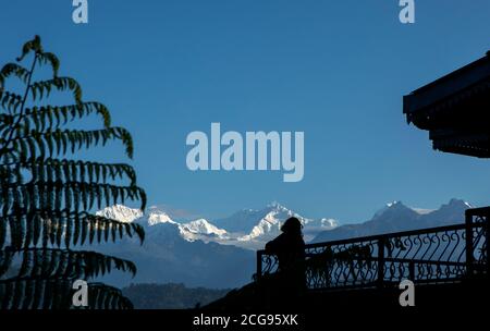
[[[29,68],[24,68],[27,60]],[[40,66],[50,69],[46,81],[36,81]],[[113,269],[136,272],[131,261],[72,248],[125,235],[143,243],[145,236],[138,224],[93,213],[125,200],[140,201],[144,209],[146,196],[132,167],[82,159],[83,150],[109,140],[122,142],[132,158],[132,137],[111,126],[103,105],[83,101],[78,83],[59,76],[59,68],[36,36],[15,63],[0,71],[1,308],[70,308],[75,280],[90,281]],[[9,85],[13,90],[7,89],[10,78],[16,78]],[[73,105],[49,105],[53,91],[71,93]],[[101,118],[101,128],[72,128],[75,120],[93,114]],[[132,308],[119,289],[96,282],[88,283],[88,304]]]

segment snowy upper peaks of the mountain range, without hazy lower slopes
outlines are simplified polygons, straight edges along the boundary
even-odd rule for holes
[[[451,199],[439,209],[421,209],[405,206],[401,201],[392,201],[378,210],[371,220],[360,224],[339,226],[334,219],[308,219],[293,210],[272,203],[267,207],[254,210],[243,209],[225,218],[209,221],[203,218],[192,221],[175,221],[157,207],[150,207],[146,214],[139,209],[121,205],[105,208],[97,214],[117,219],[122,222],[137,221],[147,228],[148,237],[169,236],[169,231],[179,234],[187,242],[203,241],[224,245],[257,249],[278,236],[281,226],[290,217],[296,217],[303,223],[306,242],[387,233],[411,229],[420,229],[453,224],[462,221],[464,210],[471,205],[460,199]],[[159,226],[167,224],[169,226]],[[332,230],[332,231],[331,231]]]

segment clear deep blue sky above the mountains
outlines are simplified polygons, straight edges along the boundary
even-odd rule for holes
[[[1,0],[0,64],[38,34],[86,100],[112,111],[136,145],[150,204],[207,217],[278,200],[307,217],[364,221],[384,203],[490,204],[490,160],[431,149],[402,96],[490,49],[490,1]],[[186,135],[304,131],[305,177],[191,172]],[[119,146],[105,156],[120,156]]]

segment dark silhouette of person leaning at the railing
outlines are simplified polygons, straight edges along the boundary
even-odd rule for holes
[[[306,286],[305,242],[302,223],[295,217],[289,218],[281,226],[282,233],[266,244],[266,253],[278,257],[280,286],[295,292]]]

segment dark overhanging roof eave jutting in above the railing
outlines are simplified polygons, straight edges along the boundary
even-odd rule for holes
[[[429,131],[433,148],[490,157],[490,51],[403,97],[408,123]]]

